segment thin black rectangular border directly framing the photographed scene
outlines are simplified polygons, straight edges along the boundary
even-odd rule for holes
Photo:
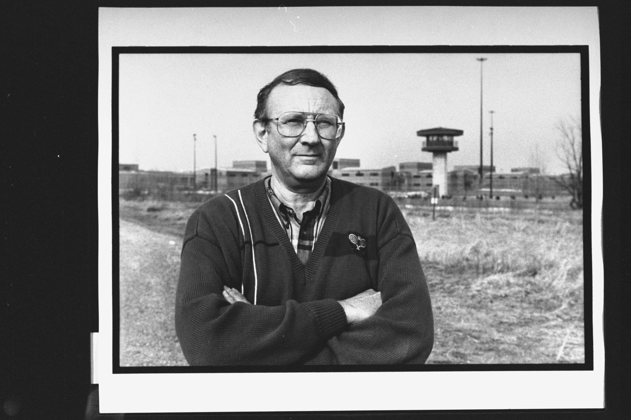
[[[568,54],[581,57],[581,119],[584,159],[583,261],[585,363],[463,365],[326,365],[326,366],[121,366],[119,292],[119,57],[121,54]],[[589,51],[587,45],[517,46],[292,46],[292,47],[112,47],[112,373],[262,373],[262,372],[476,372],[574,371],[594,369],[591,261],[591,137]],[[98,285],[98,284],[97,284]],[[97,286],[95,285],[95,287]]]

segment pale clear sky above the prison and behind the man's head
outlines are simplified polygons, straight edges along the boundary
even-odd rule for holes
[[[192,169],[234,160],[268,160],[252,134],[256,94],[288,69],[326,74],[346,105],[346,135],[336,157],[362,167],[431,161],[417,130],[457,128],[454,164],[480,162],[480,62],[483,64],[484,160],[498,171],[528,166],[538,145],[548,173],[563,167],[555,153],[560,118],[581,115],[579,54],[122,54],[122,163],[141,169]]]

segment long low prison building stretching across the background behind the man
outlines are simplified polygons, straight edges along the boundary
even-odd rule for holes
[[[341,159],[340,159],[341,161]],[[359,162],[359,159],[338,161],[345,165],[348,161]],[[363,169],[357,166],[330,169],[329,175],[345,179],[359,185],[370,186],[381,191],[431,193],[433,186],[433,168],[427,168],[429,162],[403,162],[396,166],[379,169]],[[427,169],[420,169],[427,168]],[[478,168],[475,165],[455,166],[455,170],[448,173],[448,191],[451,196],[488,195],[490,193],[491,173],[486,166],[482,184],[478,182]],[[465,168],[465,169],[461,169]],[[495,168],[493,168],[495,169]],[[514,171],[509,173],[493,172],[494,196],[529,196],[551,197],[565,196],[567,191],[562,183],[569,183],[569,174],[548,176],[536,173],[533,169]],[[186,193],[194,189],[202,191],[226,192],[242,188],[259,179],[269,176],[266,161],[234,161],[233,167],[199,169],[196,176],[192,171],[143,171],[138,164],[119,164],[119,193],[158,194],[163,197]],[[215,181],[216,179],[216,181]],[[195,188],[196,187],[196,188]]]

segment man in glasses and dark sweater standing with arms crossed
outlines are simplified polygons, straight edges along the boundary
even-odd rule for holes
[[[259,92],[271,177],[207,201],[186,227],[175,328],[191,365],[427,360],[432,309],[408,224],[388,195],[327,176],[343,112],[312,69]]]

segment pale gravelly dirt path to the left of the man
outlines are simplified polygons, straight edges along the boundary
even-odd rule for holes
[[[182,240],[120,223],[121,366],[186,366],[174,326]]]

